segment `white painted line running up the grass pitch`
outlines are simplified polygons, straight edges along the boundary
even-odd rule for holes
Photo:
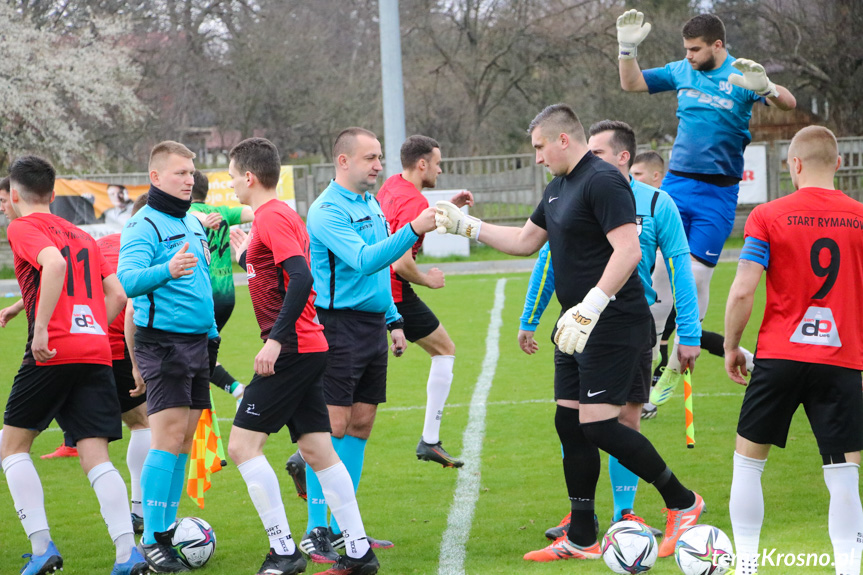
[[[500,357],[500,328],[503,325],[504,286],[506,279],[497,281],[494,290],[494,306],[485,338],[485,359],[476,381],[470,402],[467,427],[462,438],[461,457],[464,467],[458,471],[453,502],[450,507],[447,527],[440,545],[439,575],[463,575],[465,544],[470,535],[473,513],[479,498],[481,478],[482,443],[485,438],[485,414],[489,391]]]

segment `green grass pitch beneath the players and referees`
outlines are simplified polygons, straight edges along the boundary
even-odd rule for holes
[[[707,329],[722,331],[722,317],[734,264],[720,264],[713,278]],[[602,561],[527,563],[522,555],[546,545],[543,533],[568,511],[560,446],[553,425],[553,345],[548,340],[556,301],[538,331],[540,351],[528,357],[518,348],[518,317],[524,301],[527,275],[510,275],[500,338],[500,360],[489,395],[485,441],[482,450],[481,487],[470,538],[466,544],[465,573],[609,573]],[[421,297],[435,310],[457,347],[455,379],[446,409],[442,438],[447,449],[461,452],[462,434],[474,385],[485,353],[489,312],[498,276],[451,276],[443,290],[422,290]],[[0,299],[0,307],[12,303]],[[744,345],[754,349],[763,307],[763,290]],[[23,317],[0,330],[0,397],[6,398],[20,364],[26,338]],[[258,330],[248,290],[239,288],[237,307],[223,334],[220,359],[243,381],[252,375],[252,362],[260,349]],[[414,449],[422,429],[428,356],[411,346],[402,358],[390,358],[389,401],[378,413],[366,453],[359,490],[360,509],[367,531],[392,539],[396,547],[378,553],[382,572],[434,574],[438,572],[440,543],[447,525],[457,473],[419,462]],[[704,496],[708,513],[703,522],[731,536],[728,494],[737,415],[743,388],[724,373],[722,360],[706,353],[698,360],[693,378],[697,445],[686,449],[682,390],[660,408],[659,416],[645,422],[642,431],[654,442],[671,468],[689,487]],[[234,402],[215,392],[221,428],[227,436]],[[128,432],[127,432],[128,438]],[[124,457],[127,438],[111,445],[112,460],[128,480]],[[62,441],[56,426],[37,438],[33,454],[45,489],[52,535],[64,556],[70,575],[108,573],[113,563],[98,503],[77,460],[42,461]],[[287,432],[271,437],[266,455],[279,476],[285,507],[295,539],[306,526],[306,510],[284,471],[293,453]],[[206,508],[198,509],[184,497],[180,515],[209,521],[218,538],[214,559],[202,573],[227,575],[254,573],[268,544],[245,484],[233,465],[212,478]],[[22,553],[30,546],[14,513],[11,497],[0,476],[0,574],[17,573]],[[827,535],[828,495],[821,458],[808,423],[798,412],[789,448],[774,449],[764,473],[766,521],[761,546],[776,553],[831,553]],[[611,516],[611,492],[603,471],[597,488],[597,513],[604,528]],[[662,501],[643,482],[636,512],[652,525],[663,527]],[[774,554],[775,557],[775,554]],[[324,570],[309,564],[308,573]],[[673,559],[661,559],[653,572],[678,573]],[[830,567],[764,567],[764,574],[833,573]]]

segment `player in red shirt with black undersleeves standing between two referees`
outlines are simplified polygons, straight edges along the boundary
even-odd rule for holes
[[[328,346],[314,307],[308,233],[297,213],[278,199],[279,152],[269,140],[243,140],[230,158],[234,191],[255,210],[248,248],[240,259],[264,347],[255,357],[255,376],[237,409],[228,454],[270,539],[260,571],[287,575],[306,566],[291,538],[279,481],[263,454],[267,436],[287,426],[344,529],[347,555],[326,573],[375,573],[378,560],[366,539],[353,482],[330,438],[321,383]]]

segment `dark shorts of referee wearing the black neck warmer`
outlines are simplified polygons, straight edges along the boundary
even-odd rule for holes
[[[135,359],[147,382],[147,415],[172,407],[210,408],[207,334],[138,327]]]

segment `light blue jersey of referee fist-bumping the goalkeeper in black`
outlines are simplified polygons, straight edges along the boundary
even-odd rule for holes
[[[389,266],[417,241],[410,225],[394,235],[375,197],[335,182],[309,208],[306,219],[315,283],[315,306],[385,313],[401,318],[393,303]]]

